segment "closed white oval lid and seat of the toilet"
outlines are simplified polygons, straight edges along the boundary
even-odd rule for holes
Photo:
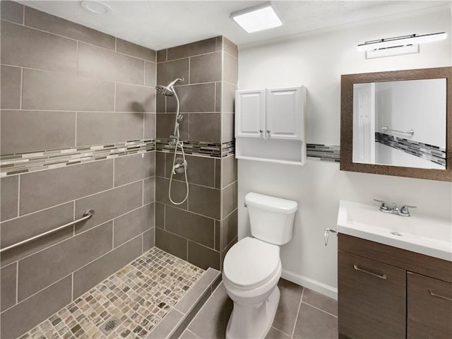
[[[233,285],[251,289],[270,280],[279,266],[279,246],[246,237],[227,252],[223,273]]]

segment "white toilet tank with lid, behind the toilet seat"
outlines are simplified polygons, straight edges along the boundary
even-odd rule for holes
[[[253,237],[276,245],[290,242],[298,209],[296,201],[250,192],[245,203]]]

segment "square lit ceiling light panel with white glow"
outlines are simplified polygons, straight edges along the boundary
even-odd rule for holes
[[[232,12],[230,18],[248,33],[283,25],[270,1]]]

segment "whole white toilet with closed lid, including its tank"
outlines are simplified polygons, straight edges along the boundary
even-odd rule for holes
[[[222,279],[234,309],[227,339],[264,338],[280,299],[280,245],[290,242],[298,204],[295,201],[249,193],[245,196],[251,235],[227,252]]]

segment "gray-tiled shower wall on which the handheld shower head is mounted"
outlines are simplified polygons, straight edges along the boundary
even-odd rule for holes
[[[201,268],[220,269],[225,249],[237,242],[237,161],[227,148],[234,140],[234,90],[237,46],[225,37],[193,42],[157,52],[157,83],[175,87],[184,115],[181,139],[186,145],[215,149],[216,155],[194,154],[187,147],[189,198],[182,205],[168,199],[176,100],[157,95],[155,168],[156,246]],[[182,201],[184,176],[173,177],[173,201]]]

